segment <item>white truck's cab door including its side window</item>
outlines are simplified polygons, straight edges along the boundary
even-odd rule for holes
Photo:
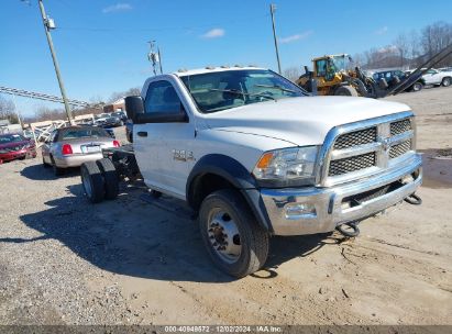
[[[152,81],[144,99],[144,112],[185,111],[175,87],[168,80]],[[195,125],[188,122],[165,122],[134,125],[134,148],[146,185],[185,199],[185,186],[192,155],[190,142]],[[191,121],[191,122],[190,122]]]

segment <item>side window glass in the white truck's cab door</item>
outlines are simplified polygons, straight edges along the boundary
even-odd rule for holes
[[[180,111],[181,102],[168,81],[151,82],[147,88],[144,110],[146,113],[152,112],[175,112]]]

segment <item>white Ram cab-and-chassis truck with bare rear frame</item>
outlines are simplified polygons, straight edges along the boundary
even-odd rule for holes
[[[405,104],[311,97],[268,69],[220,67],[150,78],[125,108],[133,148],[82,166],[88,198],[113,199],[118,176],[140,172],[154,194],[188,202],[213,263],[235,277],[264,265],[272,235],[356,232],[404,199],[420,203]]]

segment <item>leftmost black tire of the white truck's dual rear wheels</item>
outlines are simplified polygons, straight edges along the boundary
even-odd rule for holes
[[[95,162],[84,163],[80,167],[81,185],[91,203],[99,203],[106,194],[102,172]]]

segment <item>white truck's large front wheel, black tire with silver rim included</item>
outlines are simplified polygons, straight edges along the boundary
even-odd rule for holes
[[[209,194],[201,203],[199,226],[211,259],[224,272],[242,278],[265,264],[268,233],[236,190]]]

